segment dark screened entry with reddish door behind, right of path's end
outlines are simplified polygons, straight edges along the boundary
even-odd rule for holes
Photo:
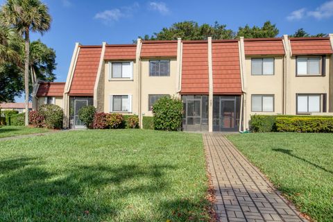
[[[241,96],[213,97],[213,131],[237,131],[241,112]]]

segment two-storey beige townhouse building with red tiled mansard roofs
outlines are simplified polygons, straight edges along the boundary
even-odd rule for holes
[[[184,105],[183,130],[238,131],[253,114],[332,114],[333,35],[239,40],[76,44],[66,83],[38,83],[33,108],[60,105],[65,126],[78,110],[136,114],[140,124],[164,95]]]

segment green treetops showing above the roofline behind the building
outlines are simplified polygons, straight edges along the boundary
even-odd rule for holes
[[[144,35],[139,38],[143,40],[177,40],[181,37],[182,40],[206,40],[207,37],[212,37],[213,40],[225,40],[234,39],[237,37],[246,38],[257,38],[257,37],[277,37],[279,34],[279,29],[275,24],[270,21],[264,22],[262,26],[252,26],[248,24],[246,26],[241,26],[238,31],[232,31],[232,29],[227,28],[225,24],[219,24],[215,22],[214,25],[202,24],[199,25],[198,22],[185,21],[177,22],[171,25],[169,28],[162,28],[158,33],[153,33],[153,35]],[[291,35],[293,37],[306,37],[306,36],[316,36],[323,37],[324,33],[318,33],[317,35],[309,35],[302,28],[298,29],[295,34]]]

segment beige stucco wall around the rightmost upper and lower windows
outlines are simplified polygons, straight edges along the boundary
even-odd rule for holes
[[[296,76],[296,57],[291,57],[291,69],[287,76],[286,114],[296,114],[296,94],[326,94],[330,107],[330,56],[325,58],[325,76]],[[331,77],[332,78],[332,77]],[[329,110],[327,110],[329,111]]]

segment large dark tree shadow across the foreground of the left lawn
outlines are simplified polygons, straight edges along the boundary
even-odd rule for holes
[[[174,169],[169,164],[61,169],[28,157],[4,160],[0,162],[0,221],[154,221],[133,213],[137,206],[128,207],[133,198],[149,202],[169,189],[164,171]],[[196,209],[196,203],[189,200],[152,201],[158,220],[168,219],[171,212],[180,212],[182,219]],[[128,217],[119,216],[124,212]]]

